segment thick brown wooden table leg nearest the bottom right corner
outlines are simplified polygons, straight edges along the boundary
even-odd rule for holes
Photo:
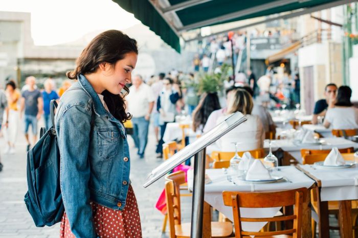
[[[339,201],[339,224],[342,238],[353,237],[351,200]]]

